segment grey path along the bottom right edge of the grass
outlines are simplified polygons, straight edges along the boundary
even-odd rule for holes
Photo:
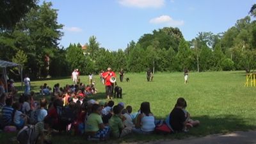
[[[256,144],[256,131],[232,132],[230,134],[212,134],[202,138],[184,140],[159,140],[152,142],[132,142],[125,144]]]

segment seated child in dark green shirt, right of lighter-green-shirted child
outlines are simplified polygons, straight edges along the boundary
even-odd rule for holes
[[[132,131],[132,127],[124,127],[121,118],[121,110],[122,108],[120,106],[114,106],[114,115],[109,119],[110,134],[114,138],[123,137]]]

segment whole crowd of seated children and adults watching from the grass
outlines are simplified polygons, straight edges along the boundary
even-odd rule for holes
[[[88,87],[89,86],[89,87]],[[13,96],[7,97],[5,93],[0,96],[0,126],[3,129],[6,125],[15,125],[17,129],[22,129],[29,124],[29,113],[36,111],[36,132],[40,136],[40,143],[44,143],[44,131],[73,131],[74,134],[86,134],[88,138],[106,140],[109,136],[121,138],[131,132],[138,134],[151,134],[154,132],[157,120],[150,110],[149,102],[142,102],[138,113],[132,113],[132,106],[125,108],[124,102],[115,105],[113,100],[108,102],[97,102],[88,100],[88,92],[93,90],[94,84],[66,85],[64,88],[60,84],[55,84],[51,96],[51,102],[47,104],[46,99],[40,99],[40,105],[34,101],[35,93],[21,95],[19,102],[14,102]],[[47,84],[44,84],[44,88]],[[42,90],[43,92],[44,90]],[[44,93],[44,92],[43,92]],[[46,95],[46,93],[45,93]],[[168,116],[168,125],[175,132],[188,131],[188,128],[199,125],[198,120],[192,120],[188,111],[187,103],[182,97],[177,99],[175,108]],[[64,122],[61,113],[63,109],[71,111],[74,118],[71,122]],[[136,115],[136,116],[135,116]],[[45,130],[47,129],[47,130]]]

